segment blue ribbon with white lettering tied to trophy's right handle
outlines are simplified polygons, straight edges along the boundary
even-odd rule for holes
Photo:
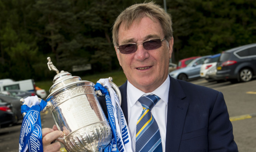
[[[113,145],[117,143],[117,137],[116,137],[116,124],[115,124],[115,117],[114,117],[114,107],[111,103],[111,98],[110,98],[108,89],[104,88],[99,83],[96,83],[96,85],[94,87],[95,87],[95,90],[100,90],[102,94],[105,94],[106,106],[107,106],[107,109],[108,109],[109,123],[110,123],[111,129],[112,129],[112,140],[111,140],[110,144],[104,149],[104,152],[112,152],[112,151],[119,152],[117,147],[116,147],[116,150],[112,150]]]

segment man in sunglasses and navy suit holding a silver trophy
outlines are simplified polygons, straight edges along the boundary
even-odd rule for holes
[[[113,43],[127,77],[119,89],[134,152],[140,146],[137,120],[145,110],[139,100],[146,95],[160,99],[150,112],[162,151],[238,151],[223,94],[168,75],[173,36],[171,18],[161,7],[153,2],[128,7],[115,21]],[[59,143],[50,143],[61,135],[43,129],[44,151],[57,151]]]

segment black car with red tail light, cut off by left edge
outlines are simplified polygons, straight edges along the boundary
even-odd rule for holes
[[[0,100],[0,128],[16,122],[17,118],[12,112],[12,104]]]

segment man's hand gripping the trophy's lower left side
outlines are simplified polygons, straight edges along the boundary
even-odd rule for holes
[[[57,126],[54,125],[53,129],[51,128],[44,128],[42,129],[42,140],[43,140],[43,150],[44,152],[61,152],[60,142],[53,142],[57,138],[63,135],[62,131],[59,131]],[[58,140],[61,141],[61,140]],[[53,142],[53,143],[52,143]],[[63,141],[61,141],[63,143]]]

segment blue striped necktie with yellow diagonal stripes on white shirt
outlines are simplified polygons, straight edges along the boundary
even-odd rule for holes
[[[136,126],[136,152],[162,152],[161,136],[151,109],[160,100],[156,95],[139,98],[143,107]]]

